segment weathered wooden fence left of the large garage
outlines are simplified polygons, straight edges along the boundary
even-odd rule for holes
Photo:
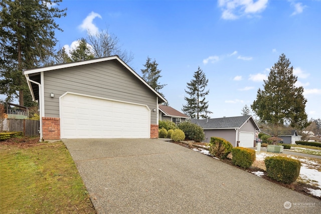
[[[4,131],[22,131],[25,136],[39,135],[39,120],[5,119]]]

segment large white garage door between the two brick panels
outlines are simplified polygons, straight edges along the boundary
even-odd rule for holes
[[[149,138],[146,105],[66,93],[60,97],[61,138]]]

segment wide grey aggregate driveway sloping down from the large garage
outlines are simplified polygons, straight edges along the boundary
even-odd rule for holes
[[[98,213],[319,213],[321,208],[321,200],[160,139],[63,142]]]

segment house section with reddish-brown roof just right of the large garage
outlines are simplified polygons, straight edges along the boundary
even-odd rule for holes
[[[185,122],[187,119],[190,119],[190,117],[186,114],[183,114],[182,112],[179,112],[170,106],[159,105],[158,108],[159,120],[169,120],[174,122],[176,125],[179,125],[180,123]]]

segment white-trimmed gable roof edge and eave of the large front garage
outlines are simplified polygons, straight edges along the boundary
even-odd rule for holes
[[[23,71],[23,74],[26,76],[27,79],[29,79],[29,75],[33,76],[33,78],[36,78],[37,76],[39,76],[41,72],[55,71],[55,70],[90,65],[90,64],[100,63],[100,62],[108,62],[112,60],[119,62],[126,70],[128,70],[132,75],[134,75],[143,85],[145,85],[149,90],[151,90],[158,97],[158,103],[167,102],[167,100],[161,94],[159,94],[156,90],[154,90],[146,81],[144,81],[134,70],[132,70],[118,56],[103,57],[103,58],[85,60],[80,62],[72,62],[72,63],[65,63],[65,64],[29,69],[29,70]],[[40,78],[38,79],[40,83]],[[35,81],[35,82],[38,82],[38,81]],[[37,93],[35,90],[38,90],[38,85],[36,85],[35,83],[31,83],[29,81],[27,81],[27,83],[30,91],[32,92],[33,98],[35,99],[35,94]]]

